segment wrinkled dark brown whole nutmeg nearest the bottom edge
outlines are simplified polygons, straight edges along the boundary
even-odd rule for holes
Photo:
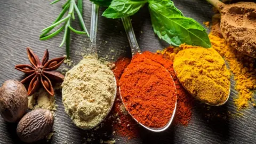
[[[50,110],[36,109],[23,116],[17,126],[17,134],[24,142],[45,138],[52,130],[54,117]]]

